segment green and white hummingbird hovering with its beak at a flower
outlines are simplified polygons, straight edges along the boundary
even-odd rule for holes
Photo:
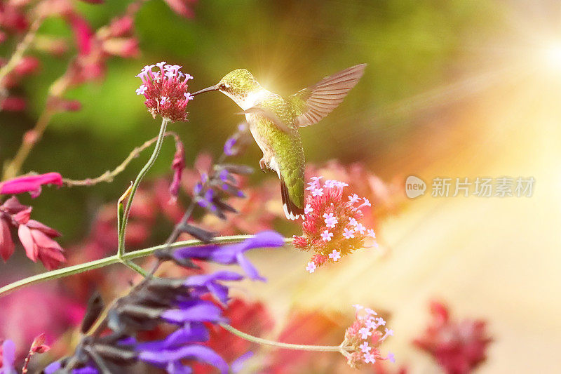
[[[317,84],[283,97],[263,88],[246,69],[235,69],[214,86],[192,95],[220,91],[241,107],[263,152],[262,171],[276,171],[283,209],[289,220],[304,215],[304,148],[299,128],[330,114],[363,76],[366,64],[326,76]]]

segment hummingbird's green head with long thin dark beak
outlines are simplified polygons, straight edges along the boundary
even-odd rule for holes
[[[199,93],[208,91],[220,91],[227,95],[229,98],[234,100],[237,105],[242,109],[247,105],[248,100],[250,100],[252,93],[261,90],[261,86],[255,80],[250,72],[246,69],[236,69],[232,70],[220,79],[220,81],[214,86],[208,88],[203,88],[201,91],[197,91],[193,95],[198,95]],[[251,105],[250,105],[251,106]]]

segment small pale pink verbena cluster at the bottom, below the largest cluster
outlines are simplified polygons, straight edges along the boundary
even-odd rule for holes
[[[356,309],[356,320],[346,329],[343,346],[346,349],[347,363],[351,368],[360,368],[366,363],[375,363],[376,360],[389,360],[395,362],[392,353],[384,357],[379,346],[388,336],[393,335],[393,330],[387,328],[386,321],[377,316],[377,313],[362,305],[353,305]],[[382,328],[384,332],[382,332]]]

